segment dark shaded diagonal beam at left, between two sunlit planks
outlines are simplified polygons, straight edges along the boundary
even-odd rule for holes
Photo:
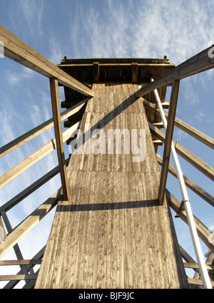
[[[68,165],[69,160],[70,160],[70,158],[66,159],[66,166]],[[41,178],[39,178],[38,180],[36,180],[31,185],[29,185],[29,187],[27,187],[25,190],[22,190],[21,192],[19,192],[18,195],[16,195],[11,200],[9,200],[8,202],[6,202],[4,205],[1,205],[1,207],[0,207],[0,214],[1,214],[1,212],[3,210],[5,212],[7,212],[8,210],[10,210],[12,207],[14,207],[19,202],[21,202],[22,200],[24,200],[26,197],[28,197],[29,195],[31,195],[32,192],[34,192],[35,190],[37,190],[38,188],[40,188],[42,185],[44,185],[44,183],[46,183],[49,180],[51,180],[51,178],[53,178],[58,173],[59,173],[59,165],[57,165],[56,168],[53,168],[53,170],[50,170],[49,173],[46,173],[46,175],[42,176]]]

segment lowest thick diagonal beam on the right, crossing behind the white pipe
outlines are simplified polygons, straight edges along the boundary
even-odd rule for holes
[[[188,224],[185,210],[180,210],[181,203],[168,190],[165,190],[165,196],[168,200],[170,207],[172,207],[173,210],[179,215],[180,219],[182,219],[186,224]],[[200,237],[200,239],[205,242],[205,245],[207,245],[210,250],[214,252],[214,243],[211,243],[209,240],[209,237],[210,235],[212,235],[212,232],[210,232],[208,227],[206,227],[202,222],[200,222],[197,217],[193,217],[195,221],[195,227],[198,232],[198,237]]]

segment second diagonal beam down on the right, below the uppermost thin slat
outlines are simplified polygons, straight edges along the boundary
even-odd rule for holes
[[[158,129],[152,123],[148,122],[149,128],[151,129],[151,133],[156,135],[158,139],[160,139],[163,143],[165,143],[165,133],[162,130]],[[184,148],[180,143],[173,140],[173,144],[175,145],[175,150],[182,158],[187,160],[190,164],[195,166],[198,170],[200,170],[204,175],[214,181],[214,169],[211,168],[207,163],[198,158],[196,155],[191,153],[187,148]]]

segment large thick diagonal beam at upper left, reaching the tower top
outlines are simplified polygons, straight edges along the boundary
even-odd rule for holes
[[[37,73],[48,78],[58,79],[58,83],[68,88],[83,93],[83,95],[93,97],[94,93],[90,88],[84,86],[68,73],[62,71],[54,63],[41,56],[37,51],[28,46],[24,41],[0,25],[0,41],[4,43],[4,55],[22,65],[31,68]]]

